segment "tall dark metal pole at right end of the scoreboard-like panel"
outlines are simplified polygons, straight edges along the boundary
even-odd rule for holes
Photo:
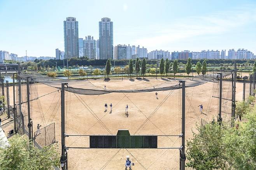
[[[181,170],[185,170],[185,80],[181,80],[182,83],[182,137],[181,137]]]

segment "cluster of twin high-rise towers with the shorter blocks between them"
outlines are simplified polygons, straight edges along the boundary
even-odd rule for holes
[[[113,59],[113,22],[110,18],[99,21],[99,39],[88,35],[79,38],[78,21],[75,17],[67,17],[63,21],[64,28],[64,58],[88,57],[89,59]],[[56,49],[57,50],[57,49]],[[56,52],[56,58],[59,53]]]

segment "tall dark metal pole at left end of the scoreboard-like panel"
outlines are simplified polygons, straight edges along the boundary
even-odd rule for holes
[[[68,83],[61,83],[61,167],[66,169],[66,148],[65,148],[65,85]]]

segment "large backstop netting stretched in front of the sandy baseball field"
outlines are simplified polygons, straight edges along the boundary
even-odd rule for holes
[[[26,76],[21,74],[24,79]],[[217,102],[211,104],[212,109],[207,113],[205,107],[203,113],[198,107],[207,106],[208,99],[212,98],[213,87],[217,84],[212,80],[216,81],[216,74],[189,78],[125,78],[123,81],[118,78],[86,81],[31,76],[34,132],[37,124],[46,127],[55,123],[56,141],[61,140],[61,94],[58,90],[62,82],[68,82],[65,88],[65,141],[69,148],[68,167],[74,169],[120,169],[126,155],[130,155],[139,169],[170,166],[178,169],[182,107],[179,80],[186,80],[187,87],[186,139],[193,137],[191,128],[195,128],[196,122],[201,123],[201,118],[218,113]],[[22,85],[24,97],[25,86]],[[26,101],[26,97],[23,99]],[[26,103],[23,103],[24,115],[26,110]],[[49,131],[43,132],[41,137],[51,135]],[[47,145],[46,137],[41,141],[41,137],[37,137],[37,142]],[[96,149],[91,148],[92,144]],[[99,151],[98,146],[112,149]]]

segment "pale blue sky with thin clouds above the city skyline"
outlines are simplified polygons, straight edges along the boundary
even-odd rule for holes
[[[256,0],[0,0],[0,50],[55,57],[56,48],[64,50],[63,21],[69,16],[79,22],[79,38],[98,39],[98,21],[109,17],[114,45],[140,45],[148,52],[256,53]]]

